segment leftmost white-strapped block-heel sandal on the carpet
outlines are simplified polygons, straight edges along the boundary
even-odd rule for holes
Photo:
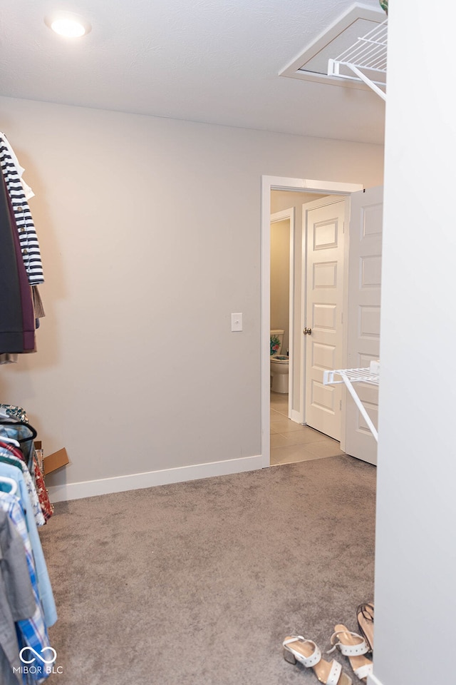
[[[325,685],[351,685],[351,678],[342,672],[342,666],[335,661],[325,661],[321,658],[321,651],[313,640],[302,635],[286,637],[283,642],[284,659],[290,664],[300,664],[308,669],[314,669],[318,680]]]

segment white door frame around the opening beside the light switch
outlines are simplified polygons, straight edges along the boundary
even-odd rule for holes
[[[271,330],[271,191],[306,191],[327,195],[347,196],[362,191],[359,183],[314,181],[307,178],[284,176],[261,176],[261,466],[269,467],[271,460],[270,440],[270,330]],[[348,260],[346,260],[348,263]],[[348,268],[348,265],[346,266]],[[304,315],[304,313],[301,313]]]

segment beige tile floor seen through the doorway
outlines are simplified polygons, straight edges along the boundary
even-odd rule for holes
[[[288,417],[288,395],[271,392],[271,466],[343,455],[340,443]]]

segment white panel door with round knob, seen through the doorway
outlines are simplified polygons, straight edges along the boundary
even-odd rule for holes
[[[343,363],[344,224],[348,201],[328,196],[304,205],[307,243],[306,412],[308,426],[341,440],[339,385],[323,385],[323,371]]]

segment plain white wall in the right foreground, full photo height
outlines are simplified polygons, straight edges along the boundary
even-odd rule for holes
[[[453,683],[456,8],[393,2],[388,29],[375,680]],[[407,36],[407,49],[404,49]]]

